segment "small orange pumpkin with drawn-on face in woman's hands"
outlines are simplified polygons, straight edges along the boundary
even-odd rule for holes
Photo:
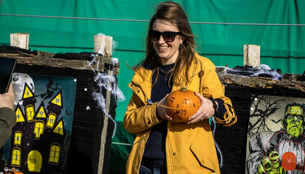
[[[169,116],[175,121],[188,121],[201,105],[201,100],[194,94],[194,91],[187,90],[186,86],[176,90],[167,97],[166,106],[177,109],[166,109]]]

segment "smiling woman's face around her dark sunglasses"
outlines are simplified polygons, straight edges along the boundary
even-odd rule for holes
[[[160,19],[156,19],[152,24],[152,29],[159,32],[173,31],[179,32],[175,25],[164,22]],[[153,47],[155,48],[158,56],[161,58],[162,65],[175,63],[179,54],[179,44],[182,44],[183,39],[181,35],[176,35],[173,42],[164,41],[162,35],[157,41],[152,41]]]

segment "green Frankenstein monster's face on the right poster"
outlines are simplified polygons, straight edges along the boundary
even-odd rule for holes
[[[291,137],[299,137],[302,135],[304,127],[304,112],[300,106],[290,106],[285,111],[285,117],[281,119],[284,130]]]

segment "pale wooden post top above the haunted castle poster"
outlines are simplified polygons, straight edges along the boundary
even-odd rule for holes
[[[11,46],[29,49],[29,33],[12,33],[9,35]]]

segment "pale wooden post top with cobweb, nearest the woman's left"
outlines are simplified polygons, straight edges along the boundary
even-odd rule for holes
[[[94,52],[112,57],[112,36],[94,35]]]

